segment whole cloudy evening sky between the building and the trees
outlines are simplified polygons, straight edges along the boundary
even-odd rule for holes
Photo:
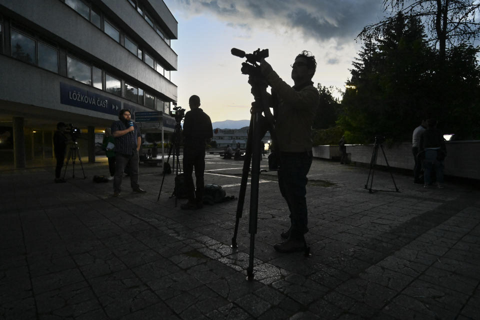
[[[313,82],[344,88],[360,49],[355,36],[383,16],[380,0],[164,0],[178,21],[178,104],[197,94],[212,121],[249,119],[252,96],[243,59],[232,47],[268,48],[267,61],[287,83],[300,51],[315,55]]]

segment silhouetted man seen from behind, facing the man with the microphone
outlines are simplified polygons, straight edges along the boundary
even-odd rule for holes
[[[213,137],[210,117],[203,112],[198,95],[188,99],[190,111],[183,120],[183,176],[188,194],[188,202],[180,205],[182,209],[199,209],[203,206],[203,172],[205,171],[205,145]],[[196,191],[193,186],[193,167],[195,167]]]

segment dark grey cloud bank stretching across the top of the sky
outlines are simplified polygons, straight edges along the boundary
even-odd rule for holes
[[[228,26],[300,31],[306,39],[351,40],[383,10],[379,0],[168,0],[187,15],[213,14]]]

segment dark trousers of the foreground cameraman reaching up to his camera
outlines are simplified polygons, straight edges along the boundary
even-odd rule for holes
[[[312,160],[309,152],[280,152],[278,186],[290,210],[290,234],[302,237],[308,232],[306,208],[306,175]]]

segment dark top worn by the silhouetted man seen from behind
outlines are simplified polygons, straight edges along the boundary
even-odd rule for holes
[[[213,136],[210,117],[201,108],[185,113],[183,119],[183,143],[189,150],[205,150],[205,140]]]

